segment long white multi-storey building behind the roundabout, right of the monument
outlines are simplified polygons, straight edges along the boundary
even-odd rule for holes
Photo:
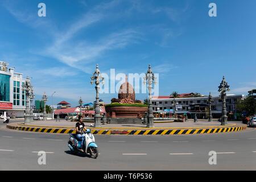
[[[167,113],[174,114],[187,114],[188,118],[207,118],[209,113],[208,96],[203,97],[187,97],[188,94],[179,94],[179,97],[172,96],[158,96],[152,98],[152,107],[155,114]],[[236,118],[236,104],[237,101],[243,100],[243,95],[228,94],[226,97],[226,109],[229,115]],[[214,102],[212,103],[213,118],[220,118],[222,112],[222,100],[219,96],[213,96]],[[174,108],[176,107],[176,108]]]

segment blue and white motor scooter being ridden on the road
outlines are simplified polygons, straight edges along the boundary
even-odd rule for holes
[[[80,154],[90,155],[91,158],[96,159],[98,157],[98,146],[95,143],[95,138],[91,133],[90,129],[85,131],[85,140],[82,147],[84,152],[78,150],[77,148],[81,148],[82,140],[76,137],[76,134],[69,134],[68,147],[72,152],[78,152]]]

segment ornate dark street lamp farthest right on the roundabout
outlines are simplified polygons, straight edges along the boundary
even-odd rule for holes
[[[226,92],[229,91],[228,82],[226,82],[225,77],[223,76],[220,86],[218,86],[218,92],[221,93],[222,100],[222,115],[221,115],[221,125],[228,124],[228,116],[226,115]]]

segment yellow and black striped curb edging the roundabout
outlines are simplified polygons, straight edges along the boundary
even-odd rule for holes
[[[39,133],[57,133],[57,134],[75,134],[74,129],[51,129],[40,127],[24,127],[6,125],[7,128],[20,131],[32,131]],[[212,133],[227,133],[246,130],[247,126],[222,127],[211,129],[172,129],[172,130],[93,130],[92,134],[96,135],[194,135],[194,134],[212,134]]]

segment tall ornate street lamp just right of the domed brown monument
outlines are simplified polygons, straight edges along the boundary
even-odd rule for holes
[[[155,75],[152,72],[151,65],[148,65],[146,77],[144,77],[144,84],[148,85],[148,114],[147,114],[147,127],[154,127],[154,115],[152,109],[152,84],[156,84]]]

